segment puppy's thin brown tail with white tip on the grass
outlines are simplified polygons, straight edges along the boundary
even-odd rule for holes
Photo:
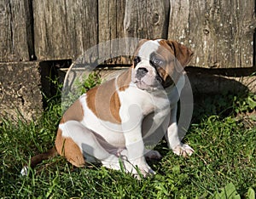
[[[47,152],[38,154],[37,156],[32,156],[31,162],[30,162],[30,167],[34,168],[38,165],[38,163],[40,163],[44,160],[47,160],[51,157],[57,156],[57,155],[58,155],[58,152],[54,146]],[[20,173],[21,173],[21,175],[27,175],[27,172],[28,172],[28,166],[26,165],[21,169]]]

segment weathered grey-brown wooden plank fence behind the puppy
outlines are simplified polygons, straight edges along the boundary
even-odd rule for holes
[[[254,0],[0,0],[0,62],[75,60],[114,38],[168,38],[190,65],[252,67]]]

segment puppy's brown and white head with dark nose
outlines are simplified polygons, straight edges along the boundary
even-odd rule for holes
[[[172,40],[142,40],[133,58],[131,81],[138,88],[168,88],[176,83],[192,51]]]

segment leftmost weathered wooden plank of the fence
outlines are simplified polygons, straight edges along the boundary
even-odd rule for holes
[[[0,61],[32,58],[31,5],[31,0],[0,1]]]

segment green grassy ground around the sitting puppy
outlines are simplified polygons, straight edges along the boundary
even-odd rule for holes
[[[0,124],[0,197],[224,198],[229,197],[228,189],[233,185],[232,194],[253,198],[255,96],[237,98],[225,94],[200,101],[184,139],[195,154],[189,158],[175,156],[162,141],[157,149],[163,158],[149,162],[157,174],[142,180],[99,165],[73,168],[60,156],[22,177],[22,164],[54,144],[61,106],[49,103],[44,116],[35,122],[4,121]],[[225,186],[226,190],[222,189]]]

